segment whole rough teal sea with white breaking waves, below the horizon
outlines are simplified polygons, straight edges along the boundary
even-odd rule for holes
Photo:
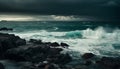
[[[14,31],[1,31],[43,42],[65,42],[70,45],[64,52],[73,58],[91,52],[99,56],[120,56],[120,29],[114,23],[91,22],[8,22],[0,27]]]

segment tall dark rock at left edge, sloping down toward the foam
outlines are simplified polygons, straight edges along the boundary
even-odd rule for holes
[[[11,48],[16,48],[20,45],[25,45],[26,41],[14,34],[0,33],[0,58],[4,56],[4,53]]]

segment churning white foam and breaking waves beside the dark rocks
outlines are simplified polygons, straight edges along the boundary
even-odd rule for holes
[[[119,56],[119,49],[116,50],[113,45],[120,46],[120,30],[107,32],[103,27],[95,30],[77,30],[70,32],[48,32],[45,30],[28,31],[14,34],[27,40],[41,39],[45,42],[65,42],[70,45],[69,53],[72,56],[78,56],[86,52],[92,52],[97,55],[116,55]],[[67,38],[65,38],[67,37]]]

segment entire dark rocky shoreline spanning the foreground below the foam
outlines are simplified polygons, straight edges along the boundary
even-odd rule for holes
[[[93,53],[83,54],[77,60],[81,63],[72,65],[74,59],[69,53],[62,53],[64,49],[69,49],[69,44],[26,41],[14,34],[0,33],[0,60],[21,63],[20,69],[120,69],[120,57],[98,59]],[[5,69],[2,63],[0,69]]]

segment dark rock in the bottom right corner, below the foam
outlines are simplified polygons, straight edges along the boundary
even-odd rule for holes
[[[119,69],[120,68],[120,58],[119,57],[103,57],[100,61],[97,61],[103,69]]]

